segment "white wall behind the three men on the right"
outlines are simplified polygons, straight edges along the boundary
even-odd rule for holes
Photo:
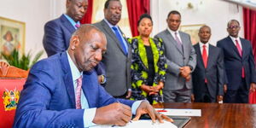
[[[233,3],[226,3],[220,0],[201,0],[197,9],[185,9],[184,5],[177,5],[186,0],[151,0],[151,15],[154,20],[152,36],[166,29],[166,18],[168,13],[176,9],[182,15],[181,25],[207,24],[212,28],[211,44],[225,38],[227,22],[236,19],[241,23],[240,35],[243,37],[242,9]],[[187,0],[188,1],[188,0]],[[200,0],[198,0],[200,1]]]

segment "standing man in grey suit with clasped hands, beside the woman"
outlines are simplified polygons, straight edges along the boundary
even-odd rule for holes
[[[191,102],[191,73],[195,69],[196,54],[187,33],[177,31],[181,15],[171,11],[166,19],[168,27],[155,38],[162,38],[166,49],[166,84],[164,102]]]

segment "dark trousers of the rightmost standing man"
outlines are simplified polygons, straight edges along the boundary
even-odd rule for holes
[[[245,79],[241,80],[238,90],[227,90],[227,93],[224,95],[224,102],[248,103],[248,90]]]

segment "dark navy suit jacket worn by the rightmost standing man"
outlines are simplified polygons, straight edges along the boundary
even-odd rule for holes
[[[250,41],[241,39],[242,57],[230,37],[219,40],[217,46],[224,51],[224,66],[228,81],[228,90],[237,90],[241,84],[241,68],[245,69],[247,90],[250,83],[256,83],[253,49]]]

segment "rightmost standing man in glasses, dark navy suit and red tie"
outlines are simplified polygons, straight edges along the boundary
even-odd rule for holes
[[[228,22],[229,36],[218,41],[224,51],[227,92],[224,102],[247,103],[248,93],[256,88],[253,49],[250,41],[239,38],[241,27],[237,20]]]

